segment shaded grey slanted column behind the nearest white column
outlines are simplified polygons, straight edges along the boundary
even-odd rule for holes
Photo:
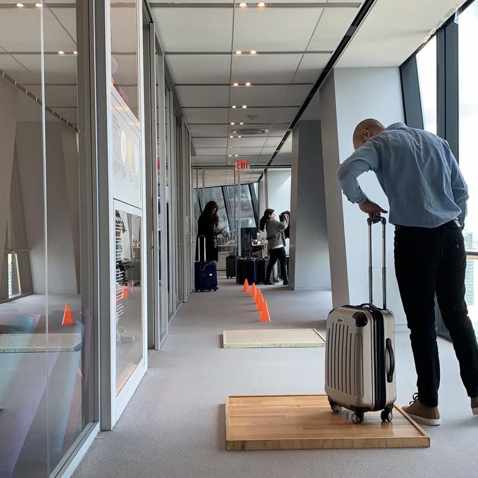
[[[320,121],[292,133],[289,280],[294,290],[330,289]]]

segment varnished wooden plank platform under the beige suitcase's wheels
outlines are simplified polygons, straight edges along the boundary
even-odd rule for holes
[[[429,447],[430,437],[401,408],[382,423],[379,412],[354,425],[326,395],[226,397],[227,450]]]

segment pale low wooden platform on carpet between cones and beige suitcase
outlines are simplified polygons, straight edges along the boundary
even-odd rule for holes
[[[316,329],[224,330],[223,348],[324,347]]]

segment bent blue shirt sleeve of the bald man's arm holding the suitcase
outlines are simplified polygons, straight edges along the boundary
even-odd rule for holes
[[[371,140],[360,146],[340,164],[336,178],[349,201],[362,204],[367,200],[357,178],[367,171],[377,171],[379,164],[380,156]]]

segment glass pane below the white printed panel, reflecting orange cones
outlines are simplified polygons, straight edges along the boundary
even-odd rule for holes
[[[116,393],[143,358],[141,218],[116,210]]]

